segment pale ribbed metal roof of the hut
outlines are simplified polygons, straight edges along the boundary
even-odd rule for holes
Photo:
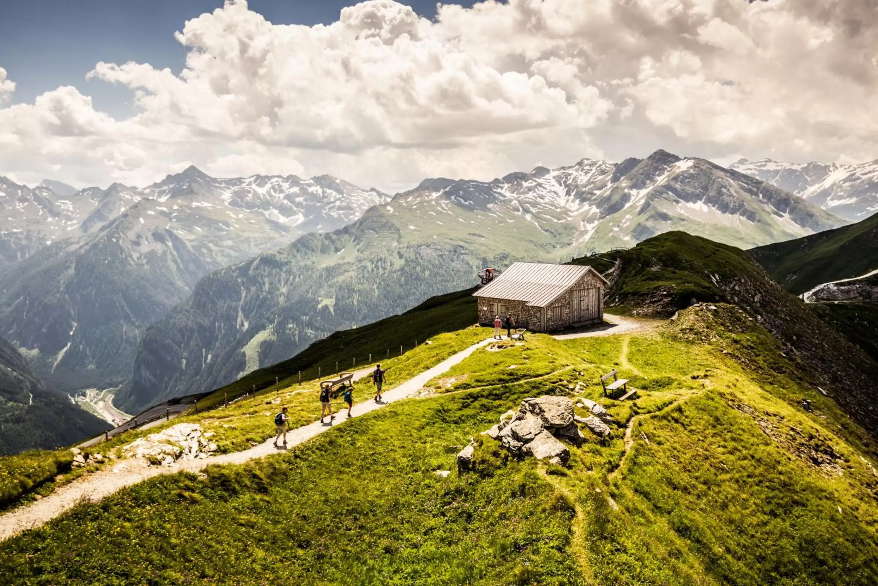
[[[604,283],[609,283],[600,272],[586,265],[513,263],[500,277],[472,294],[474,297],[524,301],[529,306],[544,307],[588,271],[594,272]]]

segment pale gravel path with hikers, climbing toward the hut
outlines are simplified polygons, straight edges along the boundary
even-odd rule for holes
[[[407,380],[399,385],[399,387],[386,391],[380,403],[374,401],[357,403],[351,409],[351,415],[353,417],[362,416],[376,409],[381,409],[389,403],[419,394],[421,388],[423,388],[428,380],[445,373],[451,366],[459,364],[464,358],[469,357],[472,352],[490,344],[492,341],[492,338],[488,338],[479,342],[479,344],[473,344],[466,350],[457,352],[457,354],[443,360],[443,362],[435,365],[433,368]],[[368,371],[371,371],[371,368],[358,371],[357,374],[362,373],[362,377]],[[326,430],[332,429],[335,425],[344,423],[346,419],[347,417],[344,414],[339,413],[336,414],[335,422],[320,423],[318,421],[288,431],[286,434],[287,447],[299,445]],[[104,496],[110,496],[121,488],[155,476],[176,474],[177,472],[198,472],[198,470],[212,464],[242,464],[250,459],[263,458],[263,456],[277,452],[278,448],[274,445],[274,438],[271,438],[263,442],[263,444],[256,445],[242,452],[221,454],[208,459],[186,460],[176,462],[174,465],[167,467],[150,467],[138,459],[119,460],[113,469],[105,469],[88,476],[83,476],[83,478],[59,488],[40,501],[0,515],[0,541],[10,539],[20,532],[40,527],[40,525],[47,523],[47,521],[54,517],[58,517],[64,511],[72,509],[77,503],[83,501],[97,502],[104,498]]]

